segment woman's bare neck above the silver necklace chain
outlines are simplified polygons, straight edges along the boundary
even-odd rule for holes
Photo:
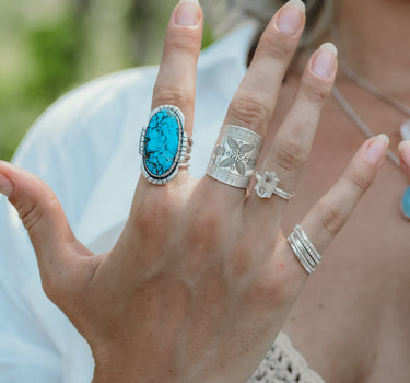
[[[352,69],[410,103],[410,0],[339,0],[342,54]]]

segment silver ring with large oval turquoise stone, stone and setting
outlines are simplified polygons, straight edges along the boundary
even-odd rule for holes
[[[162,105],[151,112],[139,151],[142,173],[152,184],[164,185],[176,177],[179,167],[189,166],[194,142],[184,126],[184,114],[176,106]]]

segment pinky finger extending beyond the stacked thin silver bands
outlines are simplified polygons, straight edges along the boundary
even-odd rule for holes
[[[385,135],[366,140],[339,181],[312,208],[301,227],[316,249],[323,254],[341,230],[355,206],[372,185],[386,156],[389,139]],[[292,252],[291,246],[288,246]],[[294,259],[297,258],[294,257]],[[301,265],[301,270],[305,269]]]

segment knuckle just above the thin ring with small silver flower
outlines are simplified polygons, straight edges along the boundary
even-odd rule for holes
[[[307,152],[301,142],[279,139],[276,155],[277,164],[285,171],[296,171],[307,160]]]

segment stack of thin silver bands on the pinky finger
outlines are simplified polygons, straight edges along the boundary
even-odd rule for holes
[[[298,224],[289,235],[288,242],[307,274],[315,271],[323,259],[321,255]]]

